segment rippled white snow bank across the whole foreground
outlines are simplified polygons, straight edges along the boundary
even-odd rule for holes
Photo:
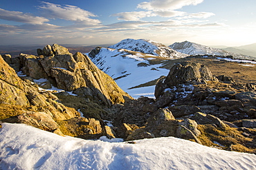
[[[103,142],[3,123],[0,169],[255,169],[256,156],[179,138]]]

